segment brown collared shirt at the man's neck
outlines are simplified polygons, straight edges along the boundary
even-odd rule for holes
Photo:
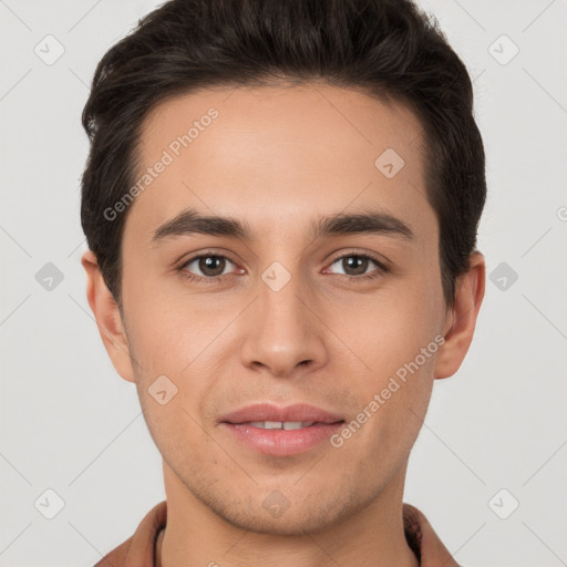
[[[422,512],[406,503],[403,503],[402,511],[405,539],[420,567],[460,567]],[[167,503],[163,501],[144,516],[132,537],[106,554],[94,567],[161,567],[166,522]]]

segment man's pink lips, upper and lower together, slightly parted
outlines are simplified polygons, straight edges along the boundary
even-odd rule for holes
[[[249,422],[301,421],[315,422],[299,430],[264,430]],[[306,453],[324,442],[342,427],[344,419],[336,413],[308,404],[278,408],[258,403],[236,410],[220,419],[219,425],[247,447],[271,456]]]

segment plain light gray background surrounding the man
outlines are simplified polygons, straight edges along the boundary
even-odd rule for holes
[[[404,501],[465,566],[567,565],[567,3],[420,3],[474,79],[489,279],[463,367],[434,386]],[[154,6],[0,0],[1,566],[91,566],[165,497],[135,386],[86,302],[79,218],[94,66]]]

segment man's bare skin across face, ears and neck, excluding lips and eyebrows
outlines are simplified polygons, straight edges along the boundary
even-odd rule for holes
[[[199,91],[147,116],[142,168],[210,106],[218,118],[131,205],[123,317],[94,255],[82,260],[101,337],[118,374],[136,384],[163,455],[162,566],[416,566],[402,523],[408,460],[434,380],[454,374],[471,344],[484,258],[473,252],[447,308],[421,126],[401,104],[316,83]],[[374,166],[389,147],[405,161],[391,179]],[[246,221],[255,240],[189,235],[152,245],[154,230],[187,207]],[[377,208],[414,239],[309,237],[320,216]],[[198,261],[177,270],[209,249],[228,258],[229,276],[184,278],[214,275]],[[369,261],[361,271],[377,277],[360,280],[341,260],[349,254],[374,255],[391,270]],[[274,261],[291,276],[277,292],[261,279]],[[259,401],[310,403],[350,422],[436,336],[444,344],[340,449],[267,456],[218,425]],[[177,388],[165,405],[148,394],[163,374]],[[262,506],[274,491],[289,501],[279,517]]]

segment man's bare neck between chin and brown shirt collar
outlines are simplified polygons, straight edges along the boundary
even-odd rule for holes
[[[406,464],[362,509],[324,528],[287,535],[247,530],[227,522],[196,498],[164,462],[167,526],[157,567],[419,567],[403,527],[405,470]]]

